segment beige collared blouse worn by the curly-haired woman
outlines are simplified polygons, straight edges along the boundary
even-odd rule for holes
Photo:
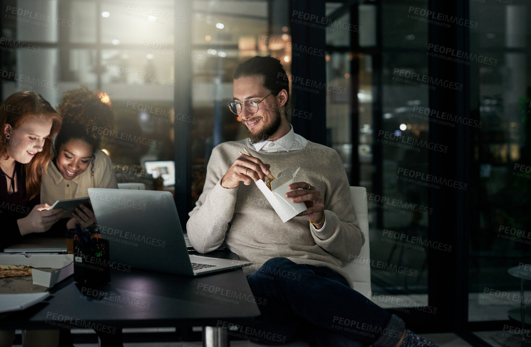
[[[118,189],[114,175],[113,162],[110,157],[97,149],[94,153],[94,169],[92,163],[82,174],[73,180],[65,180],[54,163],[48,164],[48,175],[42,175],[40,186],[40,203],[52,206],[57,200],[88,197],[89,188]],[[92,175],[91,172],[94,172]]]

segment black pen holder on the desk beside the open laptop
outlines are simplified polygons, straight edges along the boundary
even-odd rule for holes
[[[74,240],[74,281],[104,284],[110,282],[109,241],[91,239],[90,242]]]

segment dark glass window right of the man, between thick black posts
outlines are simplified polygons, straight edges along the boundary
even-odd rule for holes
[[[341,6],[327,4],[327,15]],[[415,111],[429,105],[429,90],[396,79],[395,71],[427,72],[428,59],[419,48],[425,49],[428,45],[428,27],[424,22],[396,15],[407,13],[407,4],[383,2],[382,41],[378,43],[376,6],[354,6],[358,6],[355,10],[359,32],[336,28],[326,33],[327,44],[331,45],[327,56],[327,81],[349,88],[345,97],[333,92],[327,94],[329,146],[338,151],[349,177],[359,177],[359,185],[367,189],[371,259],[356,258],[354,261],[371,268],[375,303],[384,308],[424,306],[428,303],[429,250],[397,240],[427,241],[428,189],[399,180],[397,172],[399,168],[429,172],[429,149],[404,145],[428,140],[429,122],[415,117]],[[427,3],[424,6],[427,7]],[[342,11],[351,12],[350,9]],[[350,21],[347,14],[337,20]],[[350,46],[349,35],[358,35],[360,47]],[[352,52],[345,52],[344,45],[350,46]],[[378,45],[381,51],[374,49]],[[375,62],[378,65],[374,65]],[[352,100],[351,95],[357,98]],[[357,156],[353,156],[353,151],[357,151]],[[381,301],[385,295],[404,300]]]

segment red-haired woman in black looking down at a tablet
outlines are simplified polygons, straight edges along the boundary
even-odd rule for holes
[[[49,230],[62,210],[39,204],[41,174],[50,161],[61,116],[40,94],[19,91],[0,105],[0,249],[23,235]]]

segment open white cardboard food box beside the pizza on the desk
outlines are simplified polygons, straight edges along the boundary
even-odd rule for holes
[[[31,266],[33,284],[48,288],[74,274],[71,254],[0,253],[0,264]]]

